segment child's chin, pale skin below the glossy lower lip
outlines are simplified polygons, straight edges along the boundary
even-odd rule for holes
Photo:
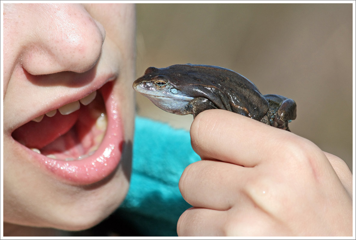
[[[68,185],[45,175],[26,182],[29,176],[22,175],[16,188],[4,189],[4,221],[67,231],[94,227],[120,206],[129,189],[131,149],[124,149],[117,169],[95,184]]]

